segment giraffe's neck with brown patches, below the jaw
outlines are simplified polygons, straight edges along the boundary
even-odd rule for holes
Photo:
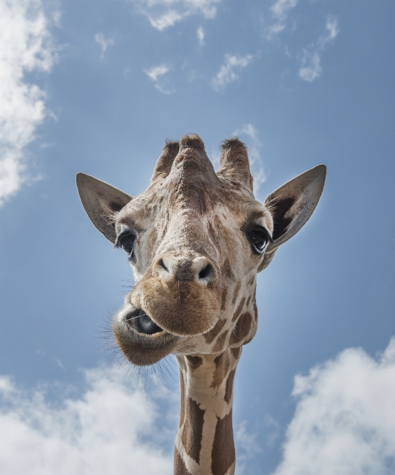
[[[241,347],[218,355],[178,356],[180,424],[175,475],[233,475],[233,383]]]

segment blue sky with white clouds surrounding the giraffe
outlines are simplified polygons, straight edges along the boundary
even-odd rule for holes
[[[145,474],[149,458],[171,473],[176,372],[141,393],[99,351],[132,275],[75,175],[134,196],[164,140],[195,132],[214,163],[224,138],[245,140],[260,200],[328,167],[312,219],[259,275],[235,382],[238,474],[393,473],[394,2],[0,12],[1,472]]]

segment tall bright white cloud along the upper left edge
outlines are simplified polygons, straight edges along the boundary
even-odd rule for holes
[[[47,113],[45,92],[24,75],[56,61],[48,25],[40,0],[0,0],[0,206],[27,180],[25,148]]]

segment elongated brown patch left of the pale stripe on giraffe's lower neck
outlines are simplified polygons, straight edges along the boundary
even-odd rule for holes
[[[182,429],[181,441],[185,452],[196,463],[199,463],[201,439],[203,437],[204,411],[191,397],[187,398],[185,407],[185,424]]]

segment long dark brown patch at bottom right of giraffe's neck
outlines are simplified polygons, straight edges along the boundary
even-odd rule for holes
[[[236,462],[234,435],[232,428],[232,411],[223,419],[217,417],[213,451],[211,452],[211,472],[213,475],[225,475]]]

